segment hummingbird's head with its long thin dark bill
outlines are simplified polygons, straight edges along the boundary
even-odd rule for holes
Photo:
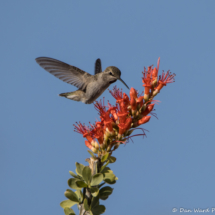
[[[116,82],[117,80],[120,80],[129,89],[127,84],[120,78],[121,71],[117,67],[109,66],[105,69],[104,73],[106,74],[110,84]]]

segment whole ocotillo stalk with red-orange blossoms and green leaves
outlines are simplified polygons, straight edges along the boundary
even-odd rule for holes
[[[175,74],[169,71],[163,72],[158,78],[159,64],[160,58],[157,67],[149,66],[147,70],[144,68],[143,96],[131,88],[129,98],[122,90],[114,87],[109,92],[116,99],[115,105],[109,102],[105,105],[104,100],[94,103],[100,121],[89,126],[80,122],[74,125],[75,131],[86,138],[85,145],[90,149],[88,152],[91,157],[86,159],[89,166],[76,163],[76,174],[69,172],[72,178],[68,180],[68,185],[76,191],[67,189],[64,193],[68,199],[62,201],[60,205],[66,215],[75,214],[71,209],[75,204],[78,205],[79,215],[99,215],[105,212],[105,206],[100,205],[99,200],[106,200],[113,192],[113,188],[104,185],[112,185],[117,181],[117,177],[108,167],[110,163],[116,161],[112,156],[113,152],[131,137],[145,135],[143,128],[141,134],[132,133],[138,126],[149,122],[150,115],[156,117],[153,110],[157,101],[154,97],[164,86],[174,82]]]

